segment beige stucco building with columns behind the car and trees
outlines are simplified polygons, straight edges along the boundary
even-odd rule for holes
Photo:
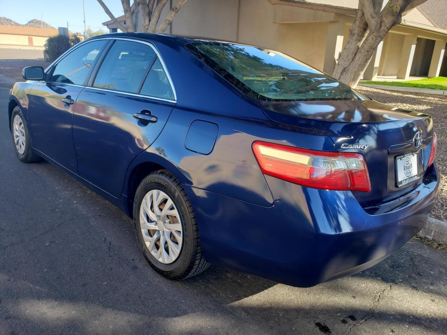
[[[436,8],[441,1],[445,0],[427,3],[431,2],[438,16],[443,11],[447,21],[445,4]],[[176,0],[169,3],[172,7]],[[358,0],[189,0],[166,33],[264,46],[332,73],[346,44],[357,5]],[[168,10],[166,6],[160,17]],[[428,12],[414,8],[390,30],[375,51],[364,79],[375,79],[377,75],[398,79],[439,75],[443,63],[447,65],[447,27],[430,20]],[[124,17],[118,20],[125,24]],[[111,32],[117,31],[112,21],[104,25]],[[445,67],[443,71],[447,72]]]

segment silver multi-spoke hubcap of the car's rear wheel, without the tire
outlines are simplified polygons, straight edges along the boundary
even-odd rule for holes
[[[144,243],[151,254],[164,264],[176,260],[181,251],[183,230],[171,198],[157,189],[149,191],[141,203],[139,222]]]

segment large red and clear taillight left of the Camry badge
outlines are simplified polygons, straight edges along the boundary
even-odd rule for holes
[[[262,173],[291,183],[330,190],[371,191],[368,167],[354,152],[316,151],[256,141]]]

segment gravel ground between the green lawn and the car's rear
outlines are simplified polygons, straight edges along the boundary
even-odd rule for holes
[[[438,154],[435,161],[441,173],[441,193],[431,212],[431,217],[447,220],[447,96],[385,91],[367,87],[358,87],[358,91],[385,104],[427,113],[433,117],[434,130],[438,138]]]

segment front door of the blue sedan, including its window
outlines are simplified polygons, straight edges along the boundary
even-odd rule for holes
[[[28,126],[33,147],[77,173],[72,121],[75,101],[108,40],[81,44],[46,73],[29,93]]]

